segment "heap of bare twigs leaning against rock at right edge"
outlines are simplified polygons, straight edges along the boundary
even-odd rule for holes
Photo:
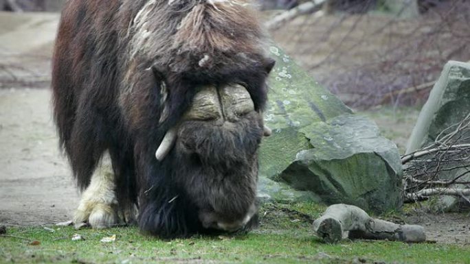
[[[403,156],[401,162],[405,165],[405,202],[454,195],[470,204],[470,113],[440,132],[434,143]]]

